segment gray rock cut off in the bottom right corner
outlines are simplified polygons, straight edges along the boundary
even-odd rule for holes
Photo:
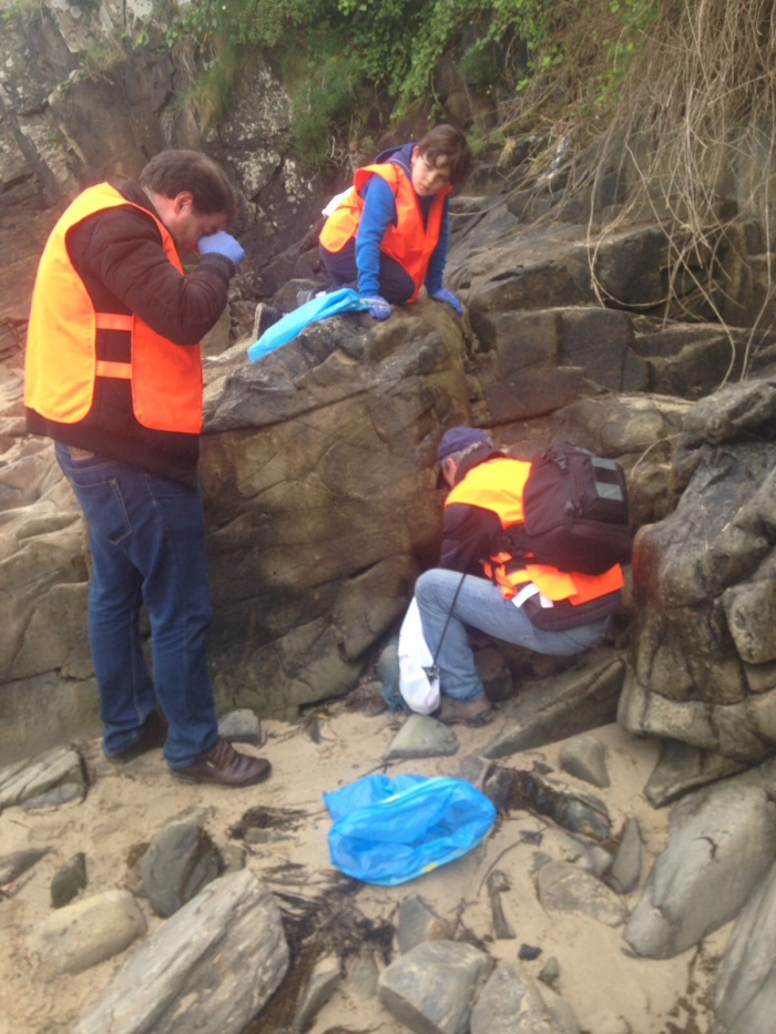
[[[719,1034],[770,1034],[776,1015],[776,866],[744,905],[714,991]]]

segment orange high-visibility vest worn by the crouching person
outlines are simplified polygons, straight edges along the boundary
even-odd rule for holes
[[[531,464],[523,460],[503,458],[478,463],[452,489],[445,505],[481,506],[496,513],[503,529],[511,528],[523,520],[523,489],[530,473]],[[522,584],[533,582],[548,600],[568,600],[579,606],[625,584],[620,564],[603,574],[579,574],[548,564],[515,567],[509,553],[499,553],[490,557],[484,570],[501,586],[507,600],[515,596]]]

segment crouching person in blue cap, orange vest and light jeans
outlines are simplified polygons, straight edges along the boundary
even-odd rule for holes
[[[523,521],[531,463],[504,455],[484,431],[447,431],[438,461],[440,484],[450,488],[441,557],[418,579],[416,600],[439,669],[441,720],[483,725],[492,708],[467,626],[540,654],[582,653],[620,607],[623,573],[620,564],[603,574],[563,571],[503,547],[504,533]]]

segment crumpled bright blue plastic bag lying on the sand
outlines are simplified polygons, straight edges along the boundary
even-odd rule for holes
[[[372,775],[324,794],[334,819],[331,863],[365,883],[391,887],[476,847],[496,808],[463,779]]]

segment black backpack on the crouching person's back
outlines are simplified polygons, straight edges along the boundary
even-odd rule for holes
[[[603,574],[631,560],[627,484],[614,460],[553,441],[532,462],[523,512],[524,523],[496,536],[492,555],[503,551],[581,574]]]

